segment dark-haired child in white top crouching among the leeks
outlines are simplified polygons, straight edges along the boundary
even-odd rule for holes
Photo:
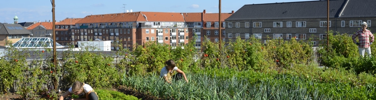
[[[161,74],[159,75],[166,82],[171,83],[172,78],[179,80],[182,78],[188,83],[188,80],[185,76],[185,73],[176,67],[176,64],[173,60],[168,60],[165,62],[166,66],[161,69]],[[176,71],[177,73],[173,76],[172,74]]]

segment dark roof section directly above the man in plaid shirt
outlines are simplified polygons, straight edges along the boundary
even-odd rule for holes
[[[329,0],[330,2],[331,0]],[[376,0],[349,0],[340,17],[375,17]]]

